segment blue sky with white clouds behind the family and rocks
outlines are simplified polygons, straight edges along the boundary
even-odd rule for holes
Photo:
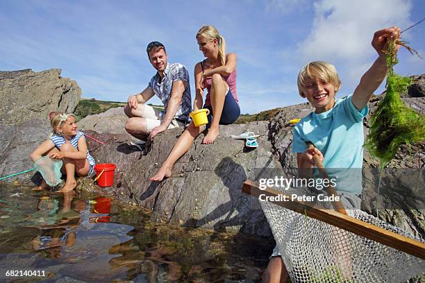
[[[188,67],[193,98],[194,65],[203,59],[195,35],[213,24],[238,55],[242,113],[256,113],[303,102],[297,74],[311,60],[333,63],[342,78],[338,96],[352,93],[376,58],[374,31],[406,28],[424,11],[423,0],[3,0],[0,70],[60,68],[83,97],[126,101],[155,74],[145,50],[158,40],[169,62]],[[425,22],[403,37],[425,57]],[[406,49],[399,60],[397,73],[425,73],[425,60]]]

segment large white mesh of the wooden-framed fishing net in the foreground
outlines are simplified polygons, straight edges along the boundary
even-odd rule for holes
[[[292,282],[403,282],[425,271],[425,261],[419,257],[274,203],[260,204]],[[347,214],[421,241],[360,209]]]

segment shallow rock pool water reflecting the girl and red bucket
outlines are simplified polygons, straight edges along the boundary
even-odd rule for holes
[[[149,217],[108,196],[2,186],[0,282],[260,282],[270,241]]]

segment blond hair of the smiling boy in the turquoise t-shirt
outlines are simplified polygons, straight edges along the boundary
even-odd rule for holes
[[[332,83],[335,87],[335,94],[341,88],[341,80],[335,66],[324,61],[309,62],[298,74],[297,85],[301,96],[303,95],[303,88],[306,87],[304,83],[306,78],[312,78],[313,76],[318,76],[326,83]]]

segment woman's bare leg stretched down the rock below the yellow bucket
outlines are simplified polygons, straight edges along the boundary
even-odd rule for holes
[[[192,146],[194,139],[199,136],[202,131],[203,126],[195,127],[193,122],[191,122],[188,128],[178,138],[176,144],[174,144],[171,153],[169,153],[167,160],[165,160],[160,169],[158,169],[156,174],[151,178],[151,181],[160,182],[164,180],[164,178],[168,178],[169,176],[171,176],[171,170],[174,166],[174,163],[176,163],[178,158],[182,157],[183,154],[185,154],[189,150],[190,146]]]

